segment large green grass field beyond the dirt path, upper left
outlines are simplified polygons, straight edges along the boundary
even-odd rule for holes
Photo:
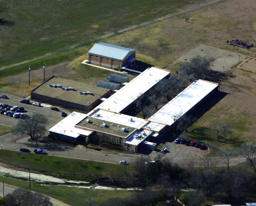
[[[85,45],[205,0],[0,2],[0,65]],[[43,18],[42,18],[43,17]]]

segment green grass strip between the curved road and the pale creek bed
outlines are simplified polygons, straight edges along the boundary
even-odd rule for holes
[[[42,174],[59,178],[94,181],[108,174],[121,174],[123,169],[118,164],[35,155],[17,151],[0,150],[1,161],[26,169],[41,171]],[[76,168],[76,169],[74,169]],[[126,167],[128,170],[130,166]]]

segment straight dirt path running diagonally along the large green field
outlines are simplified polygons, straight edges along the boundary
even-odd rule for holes
[[[96,42],[96,41],[99,41],[99,40],[102,40],[102,39],[113,37],[113,36],[119,35],[121,33],[124,33],[126,31],[130,31],[132,29],[136,29],[136,28],[143,27],[143,26],[146,26],[146,25],[149,25],[149,24],[153,24],[153,23],[156,23],[156,22],[164,20],[164,19],[172,18],[173,16],[177,16],[177,15],[188,13],[188,12],[191,12],[191,11],[194,11],[194,10],[197,10],[197,9],[208,7],[208,6],[211,6],[213,4],[217,4],[219,2],[223,2],[223,1],[224,0],[209,0],[208,2],[205,2],[205,3],[202,3],[202,4],[198,4],[198,5],[190,6],[190,7],[186,8],[186,9],[178,10],[178,11],[172,13],[172,14],[168,14],[168,15],[162,16],[160,18],[156,18],[154,20],[150,20],[150,21],[138,24],[138,25],[130,26],[130,27],[127,27],[125,29],[118,30],[117,32],[108,33],[107,35],[102,35],[102,36],[100,36],[100,37],[98,37],[96,39],[92,39],[92,40],[84,41],[84,42],[81,42],[81,43],[78,43],[78,44],[74,44],[74,45],[69,46],[67,48],[59,49],[59,50],[57,50],[55,52],[48,53],[46,55],[42,55],[42,56],[39,56],[39,57],[36,57],[36,58],[33,58],[33,59],[29,59],[29,60],[26,60],[26,61],[22,61],[22,62],[19,62],[19,63],[16,63],[16,64],[11,64],[11,65],[8,65],[8,66],[0,67],[0,70],[4,70],[4,69],[10,68],[12,66],[18,66],[18,65],[25,64],[25,63],[28,63],[28,62],[31,62],[31,61],[34,61],[34,60],[38,60],[38,59],[42,59],[42,58],[45,58],[45,57],[49,57],[49,56],[52,56],[52,55],[55,55],[55,54],[58,54],[58,53],[66,52],[67,50],[70,50],[70,49],[73,49],[73,48],[77,48],[77,47],[80,47],[80,46],[84,46],[84,45],[86,45],[88,43],[92,43],[92,42]]]

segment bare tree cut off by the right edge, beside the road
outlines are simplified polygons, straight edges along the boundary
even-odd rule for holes
[[[246,142],[240,146],[240,152],[242,153],[244,158],[250,163],[251,167],[256,173],[256,165],[255,165],[256,145]]]

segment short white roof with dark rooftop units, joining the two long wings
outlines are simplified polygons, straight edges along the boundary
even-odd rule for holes
[[[141,129],[144,125],[148,123],[145,119],[129,116],[120,113],[114,113],[111,111],[98,109],[91,115],[94,118],[102,119],[102,121],[108,121],[115,124],[125,125],[131,128]]]

